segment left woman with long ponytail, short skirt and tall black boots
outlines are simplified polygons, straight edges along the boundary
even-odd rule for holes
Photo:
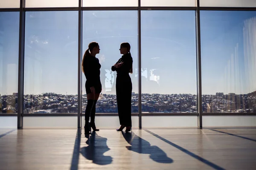
[[[90,42],[82,60],[82,71],[86,77],[85,90],[87,94],[84,125],[85,134],[90,134],[90,127],[92,127],[94,131],[99,131],[99,129],[96,129],[94,122],[96,102],[102,91],[102,84],[100,82],[101,65],[99,64],[99,59],[95,57],[96,54],[99,54],[99,51],[99,44],[97,42]]]

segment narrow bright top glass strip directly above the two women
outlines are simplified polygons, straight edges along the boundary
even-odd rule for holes
[[[84,7],[138,6],[138,0],[83,0]]]

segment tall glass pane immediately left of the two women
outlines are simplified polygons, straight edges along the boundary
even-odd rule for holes
[[[26,12],[24,113],[77,113],[78,11]]]

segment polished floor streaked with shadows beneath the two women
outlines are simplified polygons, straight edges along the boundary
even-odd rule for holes
[[[255,170],[256,128],[0,129],[0,170]]]

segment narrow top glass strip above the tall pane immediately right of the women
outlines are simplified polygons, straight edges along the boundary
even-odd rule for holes
[[[141,6],[195,6],[196,0],[141,0]]]

